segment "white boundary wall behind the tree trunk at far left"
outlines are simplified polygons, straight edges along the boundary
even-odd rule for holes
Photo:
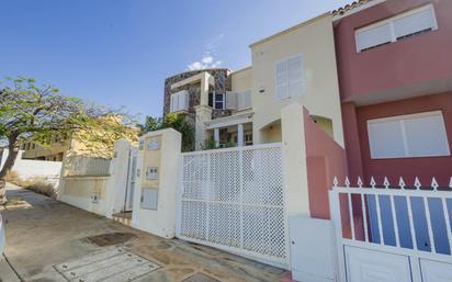
[[[19,153],[18,159],[15,160],[14,167],[12,168],[12,170],[19,173],[19,177],[24,180],[33,177],[43,177],[53,184],[58,185],[63,165],[61,161],[22,159],[22,153],[23,151]],[[4,161],[8,158],[9,151],[8,149],[3,149],[3,151],[0,154],[2,155],[0,158],[0,168],[2,168]]]

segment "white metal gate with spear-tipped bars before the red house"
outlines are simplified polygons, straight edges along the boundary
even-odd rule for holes
[[[452,192],[433,179],[421,188],[416,179],[397,188],[387,179],[376,188],[335,187],[330,211],[335,222],[342,282],[452,282]],[[452,181],[451,181],[452,187]]]

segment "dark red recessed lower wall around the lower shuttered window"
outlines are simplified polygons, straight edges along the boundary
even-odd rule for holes
[[[342,108],[344,112],[353,111],[353,109],[350,109],[350,105],[347,104],[343,104]],[[355,177],[361,174],[366,182],[369,182],[370,177],[373,176],[378,183],[382,183],[383,178],[387,176],[394,184],[398,183],[400,176],[406,179],[407,184],[413,184],[415,177],[419,177],[426,185],[430,183],[432,177],[436,177],[440,185],[449,185],[450,177],[452,177],[452,157],[450,156],[372,159],[368,135],[368,120],[442,111],[449,146],[452,151],[452,92],[361,106],[354,109],[354,111],[355,120],[353,120],[352,114],[343,114],[343,124],[344,127],[348,127],[346,148],[351,176]],[[357,136],[359,137],[358,147],[355,146]],[[434,138],[434,136],[431,136],[431,138]],[[353,163],[357,160],[362,162],[362,168]]]

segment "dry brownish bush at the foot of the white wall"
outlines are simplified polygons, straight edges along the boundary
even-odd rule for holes
[[[38,194],[56,199],[57,193],[55,187],[43,177],[33,177],[27,180],[21,179],[18,172],[10,170],[4,179],[18,187],[32,190]]]

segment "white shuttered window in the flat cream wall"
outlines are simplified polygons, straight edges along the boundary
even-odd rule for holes
[[[296,55],[275,64],[275,95],[278,100],[300,97],[304,92],[303,56]]]

